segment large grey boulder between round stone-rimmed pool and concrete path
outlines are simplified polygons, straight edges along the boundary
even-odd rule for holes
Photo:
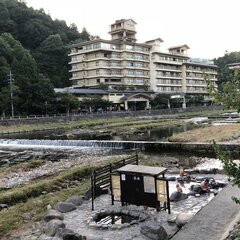
[[[141,226],[140,231],[143,235],[153,240],[166,240],[168,237],[165,228],[160,223],[154,221],[146,222],[146,224]]]

